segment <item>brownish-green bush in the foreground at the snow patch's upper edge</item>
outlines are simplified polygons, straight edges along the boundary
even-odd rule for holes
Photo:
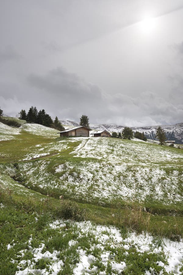
[[[56,215],[61,215],[66,219],[74,219],[76,221],[83,221],[85,218],[85,209],[81,210],[77,203],[71,200],[62,200],[61,208],[56,209]]]

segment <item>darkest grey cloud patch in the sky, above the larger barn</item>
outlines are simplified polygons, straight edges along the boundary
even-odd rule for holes
[[[85,82],[76,74],[67,72],[63,68],[57,68],[50,71],[47,75],[40,76],[31,74],[27,78],[31,86],[37,87],[51,93],[53,96],[59,96],[62,100],[74,101],[78,99],[81,102],[95,102],[102,99],[102,93],[96,85]]]

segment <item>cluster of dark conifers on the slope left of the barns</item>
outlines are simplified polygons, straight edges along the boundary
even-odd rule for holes
[[[60,123],[58,117],[56,116],[53,121],[51,116],[46,114],[44,109],[38,112],[38,109],[36,107],[31,106],[27,113],[25,110],[22,109],[19,115],[19,119],[26,120],[28,123],[38,123],[59,131],[65,130],[63,125]]]

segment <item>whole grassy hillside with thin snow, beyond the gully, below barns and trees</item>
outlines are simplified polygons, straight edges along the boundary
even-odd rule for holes
[[[6,133],[12,137],[11,129]],[[1,141],[1,170],[6,174],[12,163],[9,176],[30,189],[107,207],[140,203],[154,213],[183,213],[180,149],[113,138],[60,141],[56,130],[27,123],[13,137]]]

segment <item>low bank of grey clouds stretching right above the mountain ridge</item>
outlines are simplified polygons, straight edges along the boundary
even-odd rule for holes
[[[60,119],[78,121],[82,114],[87,114],[91,123],[142,126],[171,124],[183,116],[182,105],[174,105],[155,93],[147,91],[137,96],[106,94],[64,68],[43,76],[31,74],[27,80],[31,87],[38,89],[42,102],[51,113],[58,110]]]

